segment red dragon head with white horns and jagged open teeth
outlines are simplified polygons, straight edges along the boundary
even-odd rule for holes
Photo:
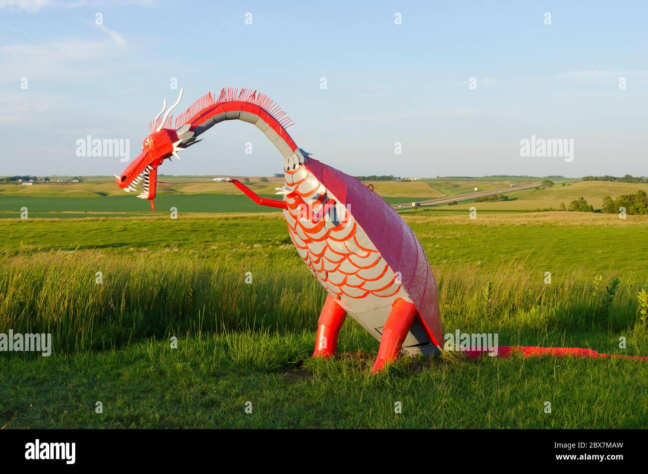
[[[187,130],[175,130],[171,128],[172,118],[169,117],[169,114],[178,106],[181,98],[182,89],[180,89],[176,103],[160,119],[161,115],[167,109],[167,100],[165,99],[163,101],[162,110],[150,124],[150,135],[142,142],[142,152],[126,167],[121,175],[114,175],[117,185],[126,192],[138,192],[140,190],[137,186],[141,185],[142,189],[137,197],[149,199],[153,210],[155,210],[153,199],[156,197],[158,166],[165,159],[171,159],[172,156],[179,159],[179,150],[184,150],[187,146],[198,142],[193,137],[193,133],[187,133],[189,127],[182,128],[187,128]],[[183,138],[180,139],[178,135],[181,135]]]

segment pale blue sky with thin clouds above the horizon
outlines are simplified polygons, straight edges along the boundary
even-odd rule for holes
[[[119,174],[119,158],[78,157],[76,140],[130,139],[134,157],[176,100],[171,78],[176,112],[259,89],[301,148],[349,174],[648,175],[647,5],[0,0],[0,175]],[[531,135],[573,139],[573,161],[521,157]],[[249,124],[203,138],[160,172],[281,172]]]

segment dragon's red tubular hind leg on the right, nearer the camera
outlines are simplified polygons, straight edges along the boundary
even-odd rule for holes
[[[399,356],[415,315],[416,307],[413,303],[400,298],[393,302],[387,322],[382,328],[378,357],[371,367],[371,372],[380,372],[386,363],[394,361]]]

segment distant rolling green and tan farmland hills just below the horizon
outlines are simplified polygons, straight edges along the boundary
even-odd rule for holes
[[[238,177],[242,181],[244,177]],[[213,176],[161,176],[164,186],[157,187],[156,209],[168,210],[178,207],[183,212],[262,212],[252,201],[231,183],[212,181]],[[249,186],[260,196],[276,198],[275,188],[283,185],[283,179],[269,177],[262,183],[259,177],[249,177]],[[83,214],[148,213],[150,205],[132,194],[119,189],[111,177],[84,177],[84,183],[47,183],[0,185],[0,218],[17,217],[21,207],[27,207],[31,217],[45,217],[58,213],[62,217],[80,217]],[[441,178],[417,181],[364,181],[373,185],[375,192],[388,203],[408,203],[428,199],[457,196],[479,191],[502,189],[508,201],[479,202],[462,201],[454,206],[422,208],[409,212],[464,213],[472,206],[485,212],[522,212],[536,209],[560,209],[561,203],[569,206],[574,199],[583,196],[594,209],[600,209],[603,196],[616,198],[637,190],[648,191],[648,184],[615,183],[610,181],[575,181],[551,188],[517,190],[509,188],[539,182],[534,179],[502,179],[500,177],[465,179]],[[54,199],[53,199],[54,198]],[[65,215],[63,215],[65,214]]]

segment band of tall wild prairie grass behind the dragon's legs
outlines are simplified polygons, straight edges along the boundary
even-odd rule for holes
[[[539,269],[512,264],[434,271],[446,331],[622,331],[638,321],[645,286],[628,275],[596,280],[583,267],[551,284]],[[299,259],[272,251],[248,259],[92,249],[0,256],[0,332],[52,333],[57,352],[178,333],[314,331],[324,299]]]

